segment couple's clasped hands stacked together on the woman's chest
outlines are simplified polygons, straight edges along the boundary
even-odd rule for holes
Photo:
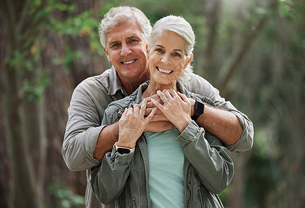
[[[163,103],[165,97],[167,101]],[[183,132],[191,121],[191,103],[184,94],[172,89],[158,91],[156,95],[145,98],[140,105],[125,109],[119,121],[118,145],[133,148],[144,131],[160,132],[178,128]]]

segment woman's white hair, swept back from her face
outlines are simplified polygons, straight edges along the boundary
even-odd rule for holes
[[[156,37],[162,31],[172,31],[183,37],[186,43],[185,53],[187,59],[191,58],[195,44],[195,35],[190,23],[188,23],[183,17],[177,17],[174,15],[169,15],[159,19],[152,28],[148,50],[154,45]],[[178,78],[179,82],[184,85],[187,80],[190,80],[192,71],[192,65],[188,64],[188,66],[181,72],[181,76]]]

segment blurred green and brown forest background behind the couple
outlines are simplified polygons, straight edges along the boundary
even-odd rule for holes
[[[0,0],[0,207],[84,207],[85,173],[62,159],[67,108],[110,65],[98,38],[113,6],[183,15],[194,70],[249,116],[225,207],[305,207],[305,1]]]

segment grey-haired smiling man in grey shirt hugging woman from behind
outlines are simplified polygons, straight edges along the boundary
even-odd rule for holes
[[[86,207],[102,205],[90,187],[90,168],[100,164],[104,154],[118,140],[118,123],[101,125],[104,110],[112,101],[135,91],[148,78],[147,45],[151,32],[149,19],[137,8],[111,8],[99,28],[100,42],[112,67],[78,85],[68,108],[68,122],[62,155],[71,171],[87,171]],[[248,117],[226,102],[207,80],[192,74],[187,89],[207,96],[216,107],[191,100],[192,119],[221,139],[228,150],[242,152],[252,147],[253,125]],[[162,114],[155,115],[145,131],[174,128]],[[158,123],[158,125],[157,125]],[[162,124],[160,124],[162,123]]]

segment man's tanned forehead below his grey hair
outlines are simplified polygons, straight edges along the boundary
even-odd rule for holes
[[[120,42],[131,37],[140,38],[140,40],[143,41],[146,40],[145,35],[137,21],[133,19],[120,21],[105,35],[106,45],[110,42]]]

